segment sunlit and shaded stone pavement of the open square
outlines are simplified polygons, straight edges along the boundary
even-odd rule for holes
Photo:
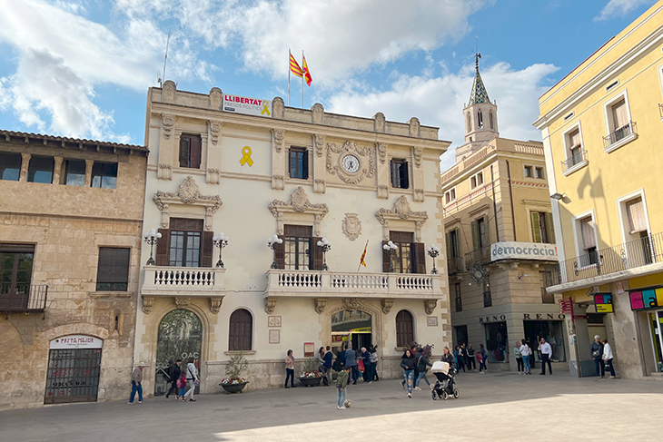
[[[432,376],[430,376],[432,378]],[[0,412],[0,441],[660,440],[663,382],[460,374],[460,398],[406,397],[398,379],[335,388],[73,404]]]

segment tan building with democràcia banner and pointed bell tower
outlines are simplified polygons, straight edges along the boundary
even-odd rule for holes
[[[497,111],[478,56],[463,109],[465,144],[441,176],[444,231],[454,343],[483,344],[489,362],[515,370],[516,340],[537,349],[549,339],[554,361],[567,360],[567,349],[564,315],[545,291],[557,252],[543,146],[500,138]]]

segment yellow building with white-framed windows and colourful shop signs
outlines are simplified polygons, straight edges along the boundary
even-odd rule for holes
[[[595,335],[622,377],[663,371],[662,24],[658,2],[539,99],[560,270],[548,290],[572,300],[579,376],[600,371]]]

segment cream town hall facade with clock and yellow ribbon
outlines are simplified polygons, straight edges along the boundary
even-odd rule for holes
[[[446,266],[426,253],[444,249],[440,154],[450,142],[437,128],[170,81],[149,90],[146,126],[145,229],[161,233],[136,319],[147,392],[163,394],[176,359],[200,358],[200,390],[215,392],[239,351],[248,388],[272,388],[288,349],[299,376],[321,346],[375,344],[391,377],[412,340],[450,343]],[[142,263],[150,254],[143,247]]]

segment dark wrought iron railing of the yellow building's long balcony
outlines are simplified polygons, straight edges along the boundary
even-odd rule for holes
[[[585,280],[663,262],[663,232],[559,262],[559,283]]]

